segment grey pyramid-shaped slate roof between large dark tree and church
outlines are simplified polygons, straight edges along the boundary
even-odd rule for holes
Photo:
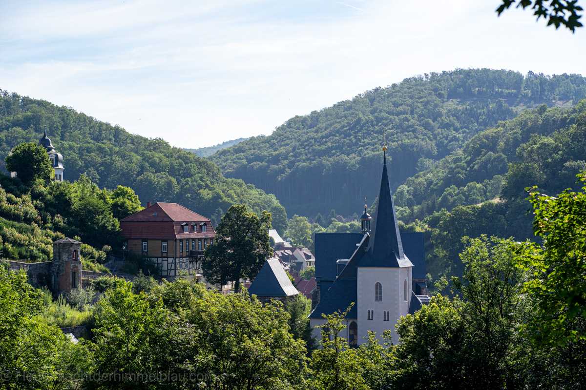
[[[292,296],[299,294],[277,258],[265,261],[248,294],[257,296]]]

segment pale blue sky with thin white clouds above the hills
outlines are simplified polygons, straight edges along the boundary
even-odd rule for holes
[[[0,0],[0,89],[197,148],[454,68],[586,75],[500,0]]]

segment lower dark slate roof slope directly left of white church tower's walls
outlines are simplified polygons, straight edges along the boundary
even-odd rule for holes
[[[309,319],[322,318],[323,314],[333,314],[338,310],[345,311],[350,303],[354,302],[354,306],[346,315],[347,319],[358,318],[358,294],[357,294],[357,280],[356,279],[338,279],[332,284],[332,287],[326,292],[323,298],[315,306],[314,311],[309,315]]]

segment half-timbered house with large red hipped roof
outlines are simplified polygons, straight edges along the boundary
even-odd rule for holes
[[[177,203],[158,202],[120,220],[124,249],[151,258],[161,276],[205,282],[203,251],[213,244],[212,221]]]

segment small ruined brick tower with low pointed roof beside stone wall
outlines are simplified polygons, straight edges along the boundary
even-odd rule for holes
[[[81,243],[68,237],[54,241],[51,273],[57,294],[81,288]]]

